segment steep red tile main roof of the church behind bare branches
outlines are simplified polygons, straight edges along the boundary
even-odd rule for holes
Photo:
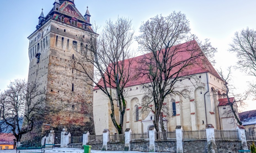
[[[190,49],[195,48],[195,47],[199,47],[198,43],[195,40],[172,46],[170,51],[177,52],[177,54],[175,54],[175,57],[172,58],[173,61],[175,61],[175,63],[177,63],[179,61],[184,61],[186,59],[189,59],[191,57]],[[136,71],[137,71],[137,68],[141,66],[139,61],[142,59],[149,59],[151,57],[151,55],[152,55],[152,53],[148,53],[148,54],[144,54],[144,55],[132,58],[132,65],[131,65],[132,71],[130,72],[132,77],[138,75],[138,73],[136,73]],[[130,61],[131,61],[131,59],[126,59],[124,62],[124,65],[129,65]],[[213,75],[215,75],[216,77],[220,78],[220,76],[218,75],[218,73],[216,72],[216,70],[214,69],[212,64],[208,61],[208,59],[205,56],[201,56],[200,58],[196,59],[195,61],[197,62],[197,64],[192,64],[192,65],[187,66],[185,69],[183,69],[183,72],[181,72],[179,74],[179,76],[188,76],[188,75],[193,75],[193,74],[210,72]],[[175,72],[177,72],[178,69],[179,69],[179,67],[174,67],[172,69],[172,73],[175,74]],[[148,79],[148,77],[146,75],[144,75],[143,77],[137,77],[136,79],[129,81],[126,84],[126,87],[135,86],[135,85],[139,85],[139,84],[143,84],[143,83],[149,83],[149,82],[150,82],[150,80]],[[99,84],[103,84],[103,81],[100,80]],[[94,90],[95,89],[99,89],[99,88],[95,87]]]

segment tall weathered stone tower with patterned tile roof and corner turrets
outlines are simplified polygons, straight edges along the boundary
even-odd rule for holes
[[[22,143],[40,144],[41,136],[49,130],[60,133],[68,128],[71,135],[82,132],[95,133],[93,120],[93,88],[76,77],[69,65],[75,56],[74,48],[80,48],[78,36],[93,32],[90,13],[83,16],[75,7],[74,0],[55,0],[52,10],[44,16],[28,39],[30,59],[28,83],[39,82],[38,88],[46,90],[44,118],[38,127],[22,137]],[[92,65],[88,65],[92,67]]]

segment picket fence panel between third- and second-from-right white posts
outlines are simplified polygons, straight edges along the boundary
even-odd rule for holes
[[[183,140],[206,140],[206,129],[195,130],[195,131],[184,131],[182,130]]]

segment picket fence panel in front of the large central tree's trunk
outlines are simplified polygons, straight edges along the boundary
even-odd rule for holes
[[[176,141],[176,131],[156,131],[155,132],[155,140],[156,141]]]

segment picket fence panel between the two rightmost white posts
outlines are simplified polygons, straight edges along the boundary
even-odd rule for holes
[[[216,130],[214,129],[215,140],[239,141],[238,130]]]

